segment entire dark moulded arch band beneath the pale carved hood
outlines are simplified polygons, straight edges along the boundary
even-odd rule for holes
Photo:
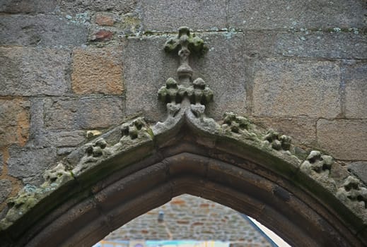
[[[102,160],[9,227],[8,246],[91,246],[182,193],[249,215],[293,246],[366,243],[350,210],[286,160],[208,138],[183,124],[164,141]]]

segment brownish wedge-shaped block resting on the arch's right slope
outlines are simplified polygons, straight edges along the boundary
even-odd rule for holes
[[[273,128],[280,133],[290,135],[297,143],[316,144],[316,119],[305,116],[296,118],[255,117],[252,121],[265,128]]]

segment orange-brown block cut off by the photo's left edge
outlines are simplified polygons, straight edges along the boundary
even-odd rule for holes
[[[23,99],[0,99],[0,147],[12,143],[24,145],[28,140],[29,102]]]

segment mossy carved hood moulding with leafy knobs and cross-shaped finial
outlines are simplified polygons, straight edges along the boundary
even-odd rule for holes
[[[177,52],[180,56],[178,81],[168,78],[158,90],[158,99],[167,107],[168,116],[165,121],[151,126],[143,117],[138,117],[71,152],[53,169],[45,172],[45,183],[40,187],[25,186],[16,197],[8,199],[8,212],[0,222],[0,230],[11,227],[48,195],[97,169],[103,161],[130,152],[136,147],[153,145],[151,143],[166,138],[175,130],[180,131],[182,126],[189,126],[195,133],[211,138],[214,142],[225,139],[238,146],[251,147],[274,159],[281,159],[291,167],[289,169],[295,169],[295,172],[300,172],[325,188],[361,219],[363,224],[367,224],[366,185],[332,157],[319,151],[306,153],[301,147],[293,145],[289,136],[272,129],[264,133],[245,116],[233,112],[224,114],[220,122],[206,116],[206,105],[214,100],[214,93],[202,78],[193,80],[189,64],[190,54],[206,52],[202,39],[192,35],[189,28],[180,28],[177,37],[166,42],[165,52]]]

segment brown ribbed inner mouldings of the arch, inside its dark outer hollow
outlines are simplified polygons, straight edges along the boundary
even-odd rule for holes
[[[156,158],[147,157],[98,181],[72,206],[70,201],[60,205],[64,211],[29,241],[30,246],[92,246],[184,193],[249,215],[293,246],[358,246],[330,210],[291,181],[226,152],[211,150],[233,163],[182,149],[199,152],[185,143],[161,150]]]

